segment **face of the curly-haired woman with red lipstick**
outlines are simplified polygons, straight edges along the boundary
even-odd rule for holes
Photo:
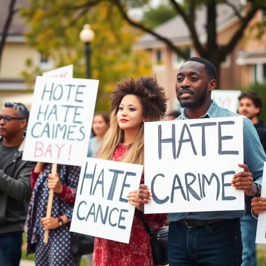
[[[121,129],[137,129],[144,122],[142,105],[136,95],[128,94],[123,97],[117,113],[117,122]]]

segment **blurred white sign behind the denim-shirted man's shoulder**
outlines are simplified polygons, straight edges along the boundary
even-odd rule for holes
[[[213,90],[211,92],[211,98],[214,99],[219,106],[237,113],[238,97],[240,94],[240,90]]]

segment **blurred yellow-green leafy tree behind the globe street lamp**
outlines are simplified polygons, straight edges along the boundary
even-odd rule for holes
[[[91,43],[91,64],[92,78],[99,80],[96,111],[108,108],[109,95],[115,82],[150,73],[147,52],[132,51],[132,43],[140,36],[140,31],[128,26],[111,3],[101,2],[81,13],[67,10],[64,6],[64,12],[53,15],[58,6],[60,9],[66,1],[42,2],[43,5],[40,5],[32,0],[30,9],[22,9],[22,15],[27,16],[30,26],[26,34],[28,43],[42,53],[53,56],[58,67],[73,64],[76,78],[85,77],[84,44],[79,40],[80,31],[85,23],[89,23],[95,33]],[[31,60],[27,60],[26,64],[28,69],[32,69]],[[22,74],[32,83],[41,72],[34,68]]]

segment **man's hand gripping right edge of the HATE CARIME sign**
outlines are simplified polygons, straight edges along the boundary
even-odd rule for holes
[[[248,170],[248,166],[246,164],[238,164],[238,166],[243,168],[244,172],[239,172],[235,174],[233,176],[231,184],[235,189],[244,190],[247,196],[253,196],[252,193],[253,176]]]

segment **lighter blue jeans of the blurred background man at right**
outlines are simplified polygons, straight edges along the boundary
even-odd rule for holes
[[[252,214],[246,214],[241,219],[241,231],[243,241],[242,266],[257,266],[256,258],[256,232],[257,219]]]

